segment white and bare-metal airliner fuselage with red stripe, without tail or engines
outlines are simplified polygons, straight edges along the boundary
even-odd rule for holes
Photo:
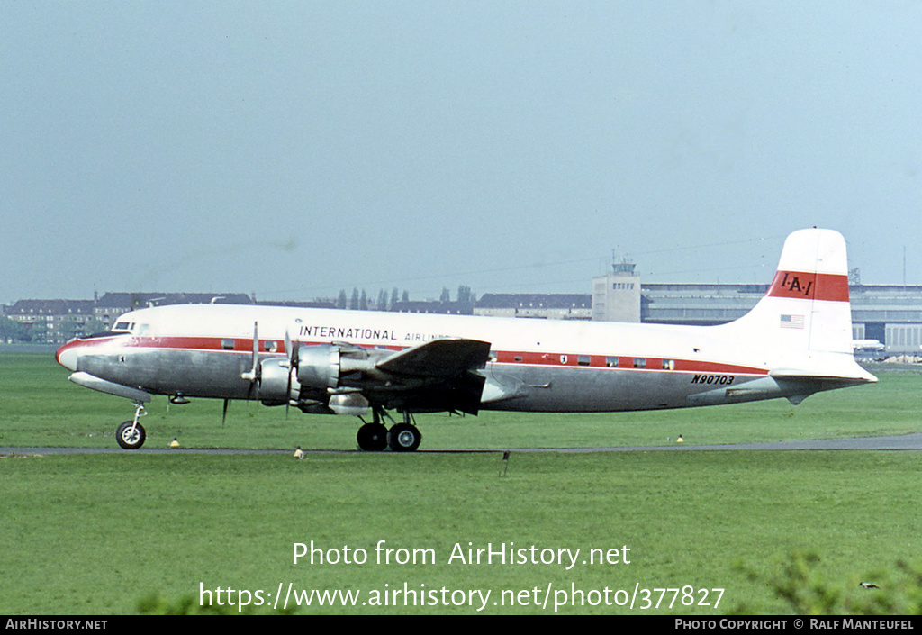
[[[486,378],[482,409],[644,410],[802,392],[769,377],[797,365],[797,352],[728,339],[721,327],[221,305],[148,308],[118,322],[124,333],[63,347],[61,364],[153,394],[265,400],[245,378],[255,330],[260,363],[286,359],[286,341],[379,351],[443,338],[490,342],[490,361],[477,371]]]

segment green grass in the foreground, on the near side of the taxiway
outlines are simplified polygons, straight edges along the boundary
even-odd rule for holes
[[[786,606],[770,577],[786,554],[821,555],[853,591],[881,563],[918,555],[922,457],[870,452],[90,455],[7,458],[2,613],[120,614],[150,595],[206,588],[589,591],[724,588],[717,610]],[[377,564],[374,546],[431,549],[435,563]],[[364,565],[292,563],[293,544],[365,549]],[[455,543],[630,547],[631,564],[448,564]],[[388,585],[385,587],[385,585]],[[552,604],[552,603],[551,603]],[[317,612],[300,608],[296,612]],[[488,612],[545,613],[535,606]],[[628,612],[567,607],[568,612]],[[265,609],[257,612],[263,612]],[[322,612],[341,612],[324,609]],[[472,613],[359,606],[345,612]],[[661,607],[657,613],[668,613]]]

